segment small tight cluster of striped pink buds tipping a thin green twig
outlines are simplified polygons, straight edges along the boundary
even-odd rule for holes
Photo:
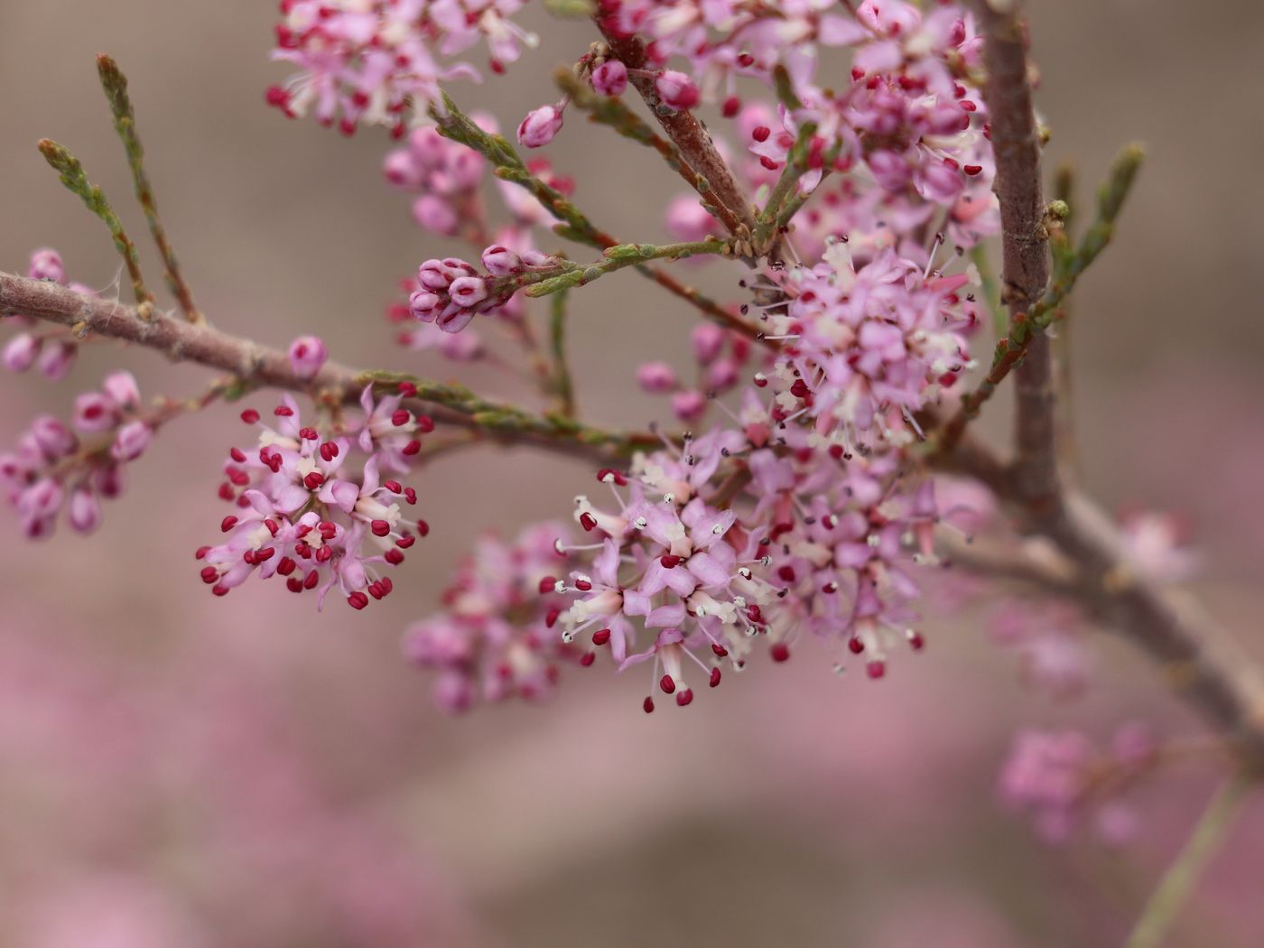
[[[495,312],[530,281],[557,268],[557,259],[538,250],[518,253],[504,244],[483,250],[479,273],[456,257],[426,260],[417,268],[421,287],[408,297],[408,311],[418,322],[434,322],[445,332],[460,332],[479,313]]]

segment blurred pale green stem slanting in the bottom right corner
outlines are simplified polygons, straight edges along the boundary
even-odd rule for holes
[[[1224,843],[1253,784],[1254,775],[1240,771],[1216,791],[1181,854],[1163,873],[1158,889],[1141,910],[1125,948],[1158,948],[1163,944],[1177,914],[1193,894],[1211,857]]]

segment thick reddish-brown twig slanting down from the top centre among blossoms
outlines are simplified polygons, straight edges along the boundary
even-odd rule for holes
[[[611,52],[628,70],[653,68],[653,63],[648,62],[646,56],[645,43],[637,37],[621,37],[600,16],[597,18],[597,27],[602,30]],[[653,118],[657,119],[662,130],[667,133],[667,138],[680,152],[680,157],[695,174],[707,181],[707,198],[715,206],[729,233],[737,235],[742,226],[748,231],[753,230],[755,214],[751,200],[746,196],[742,186],[737,183],[728,163],[715,150],[707,126],[693,112],[678,111],[664,105],[652,78],[633,72],[629,81],[641,94],[641,99],[653,112]]]

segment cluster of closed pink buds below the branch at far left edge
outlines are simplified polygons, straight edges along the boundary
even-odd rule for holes
[[[162,412],[142,410],[137,380],[126,372],[78,396],[71,426],[49,415],[35,418],[16,449],[0,454],[0,487],[23,533],[49,536],[63,508],[78,532],[96,530],[101,498],[123,492],[124,468],[144,454],[163,421]]]

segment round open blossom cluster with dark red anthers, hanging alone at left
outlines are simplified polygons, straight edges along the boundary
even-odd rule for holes
[[[236,507],[220,523],[224,541],[197,550],[211,592],[226,595],[258,574],[282,576],[292,593],[315,590],[317,607],[334,586],[355,609],[388,595],[394,584],[384,566],[403,562],[403,551],[430,530],[406,513],[417,492],[383,479],[407,473],[418,436],[434,430],[428,417],[401,407],[410,394],[408,383],[377,398],[367,386],[351,425],[305,425],[289,396],[272,425],[253,408],[241,412],[259,435],[249,453],[234,447],[224,466],[220,497]]]

